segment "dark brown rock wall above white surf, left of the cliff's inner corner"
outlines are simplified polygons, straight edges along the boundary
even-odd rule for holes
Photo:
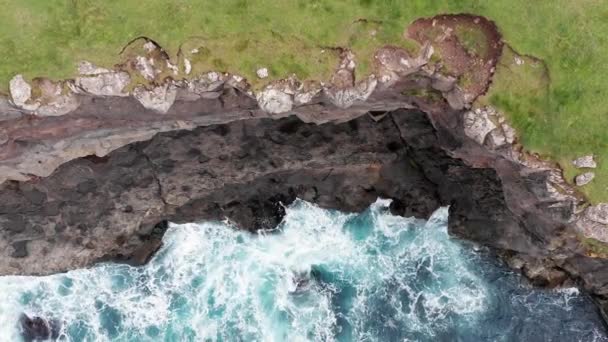
[[[36,182],[0,186],[1,240],[12,242],[2,247],[10,258],[0,270],[142,263],[159,247],[164,220],[273,228],[297,197],[345,211],[394,198],[395,212],[418,217],[440,205],[390,116],[324,125],[234,121],[162,133],[104,158],[73,160]]]

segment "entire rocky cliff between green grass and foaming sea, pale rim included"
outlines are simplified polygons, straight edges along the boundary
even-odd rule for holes
[[[127,94],[125,74],[87,64],[33,98],[16,78],[0,100],[0,274],[142,263],[167,221],[267,229],[297,197],[344,211],[388,197],[408,216],[449,205],[453,235],[495,248],[537,284],[574,281],[608,298],[608,261],[580,243],[590,225],[604,228],[601,210],[523,152],[500,113],[470,108],[497,56],[471,62],[484,69],[467,88],[432,55],[430,44],[380,49],[376,74],[357,82],[343,51],[331,82],[257,92],[209,73]]]

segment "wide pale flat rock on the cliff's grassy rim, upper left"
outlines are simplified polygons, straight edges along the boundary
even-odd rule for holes
[[[76,78],[72,90],[97,96],[129,96],[124,92],[131,77],[124,71],[111,71]]]

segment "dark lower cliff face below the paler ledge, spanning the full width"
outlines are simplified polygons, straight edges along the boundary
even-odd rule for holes
[[[167,222],[275,227],[295,198],[361,211],[378,197],[427,217],[450,206],[452,234],[501,251],[535,284],[570,279],[608,302],[608,263],[586,256],[550,175],[463,133],[442,108],[304,123],[250,118],[161,133],[46,178],[0,185],[0,274],[49,274],[101,260],[141,264]]]

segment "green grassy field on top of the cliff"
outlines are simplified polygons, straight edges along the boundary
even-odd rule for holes
[[[401,39],[421,16],[468,12],[497,22],[519,53],[548,73],[503,58],[483,101],[504,110],[528,149],[559,161],[594,153],[596,179],[582,188],[608,201],[608,3],[603,0],[0,0],[0,90],[16,73],[68,78],[79,60],[103,66],[130,39],[145,35],[172,56],[208,47],[196,71],[222,68],[253,78],[296,73],[324,79],[328,47],[349,46],[369,69],[374,48]],[[368,19],[367,22],[357,19]],[[379,24],[377,21],[380,21]],[[183,44],[183,46],[182,46]],[[532,62],[532,60],[530,60]]]

